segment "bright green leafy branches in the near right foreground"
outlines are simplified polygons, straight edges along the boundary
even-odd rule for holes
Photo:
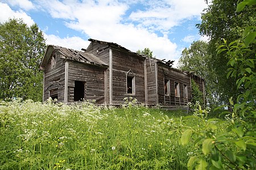
[[[241,2],[242,6],[245,6],[245,2],[250,5],[247,3],[249,1],[245,0]],[[242,8],[241,4],[238,4],[237,11],[240,11],[240,8]],[[227,129],[222,134],[216,133],[220,125],[209,124],[217,119],[207,120],[204,117],[207,111],[197,105],[199,109],[195,109],[195,114],[199,115],[194,115],[196,117],[193,118],[201,120],[205,128],[204,130],[193,130],[192,135],[186,136],[186,141],[195,141],[195,146],[199,146],[196,154],[189,159],[189,169],[194,167],[197,169],[198,165],[200,165],[200,169],[256,168],[256,59],[255,51],[249,48],[250,45],[253,45],[255,37],[253,40],[247,41],[247,36],[251,36],[246,33],[249,29],[251,27],[245,28],[243,34],[246,36],[242,40],[238,39],[230,43],[224,40],[224,44],[218,48],[218,54],[225,52],[226,58],[229,58],[226,78],[236,78],[235,83],[239,94],[234,95],[236,101],[230,97],[229,105],[226,105],[232,108],[232,111],[222,112],[227,119],[225,121]],[[191,131],[191,129],[191,126],[188,126],[185,131]],[[181,134],[181,139],[183,138],[183,134]],[[200,145],[200,143],[202,144]]]

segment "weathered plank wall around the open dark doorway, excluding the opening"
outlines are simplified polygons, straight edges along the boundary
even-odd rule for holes
[[[96,100],[104,104],[105,67],[69,61],[68,66],[68,103],[74,102],[75,81],[85,82],[85,100]]]

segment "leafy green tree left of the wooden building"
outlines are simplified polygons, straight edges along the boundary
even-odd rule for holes
[[[38,25],[28,27],[18,19],[0,23],[0,99],[42,100],[39,65],[45,49]]]

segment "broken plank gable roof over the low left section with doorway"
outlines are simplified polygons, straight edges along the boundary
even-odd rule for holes
[[[106,65],[106,63],[104,63],[98,57],[94,56],[91,53],[81,52],[79,50],[68,49],[56,45],[48,45],[46,53],[44,54],[43,61],[40,65],[40,70],[44,70],[44,68],[46,67],[46,63],[51,58],[52,52],[54,50],[57,50],[58,52],[63,54],[63,56],[61,57],[63,59],[69,59],[81,63],[89,63],[93,65],[108,66]]]

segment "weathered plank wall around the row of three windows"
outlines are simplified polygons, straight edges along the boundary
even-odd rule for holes
[[[164,95],[164,79],[170,80],[170,96]],[[175,97],[175,82],[179,83],[180,97]],[[184,98],[184,85],[188,88],[188,99]],[[163,105],[185,105],[191,101],[189,75],[158,62],[158,99]]]

